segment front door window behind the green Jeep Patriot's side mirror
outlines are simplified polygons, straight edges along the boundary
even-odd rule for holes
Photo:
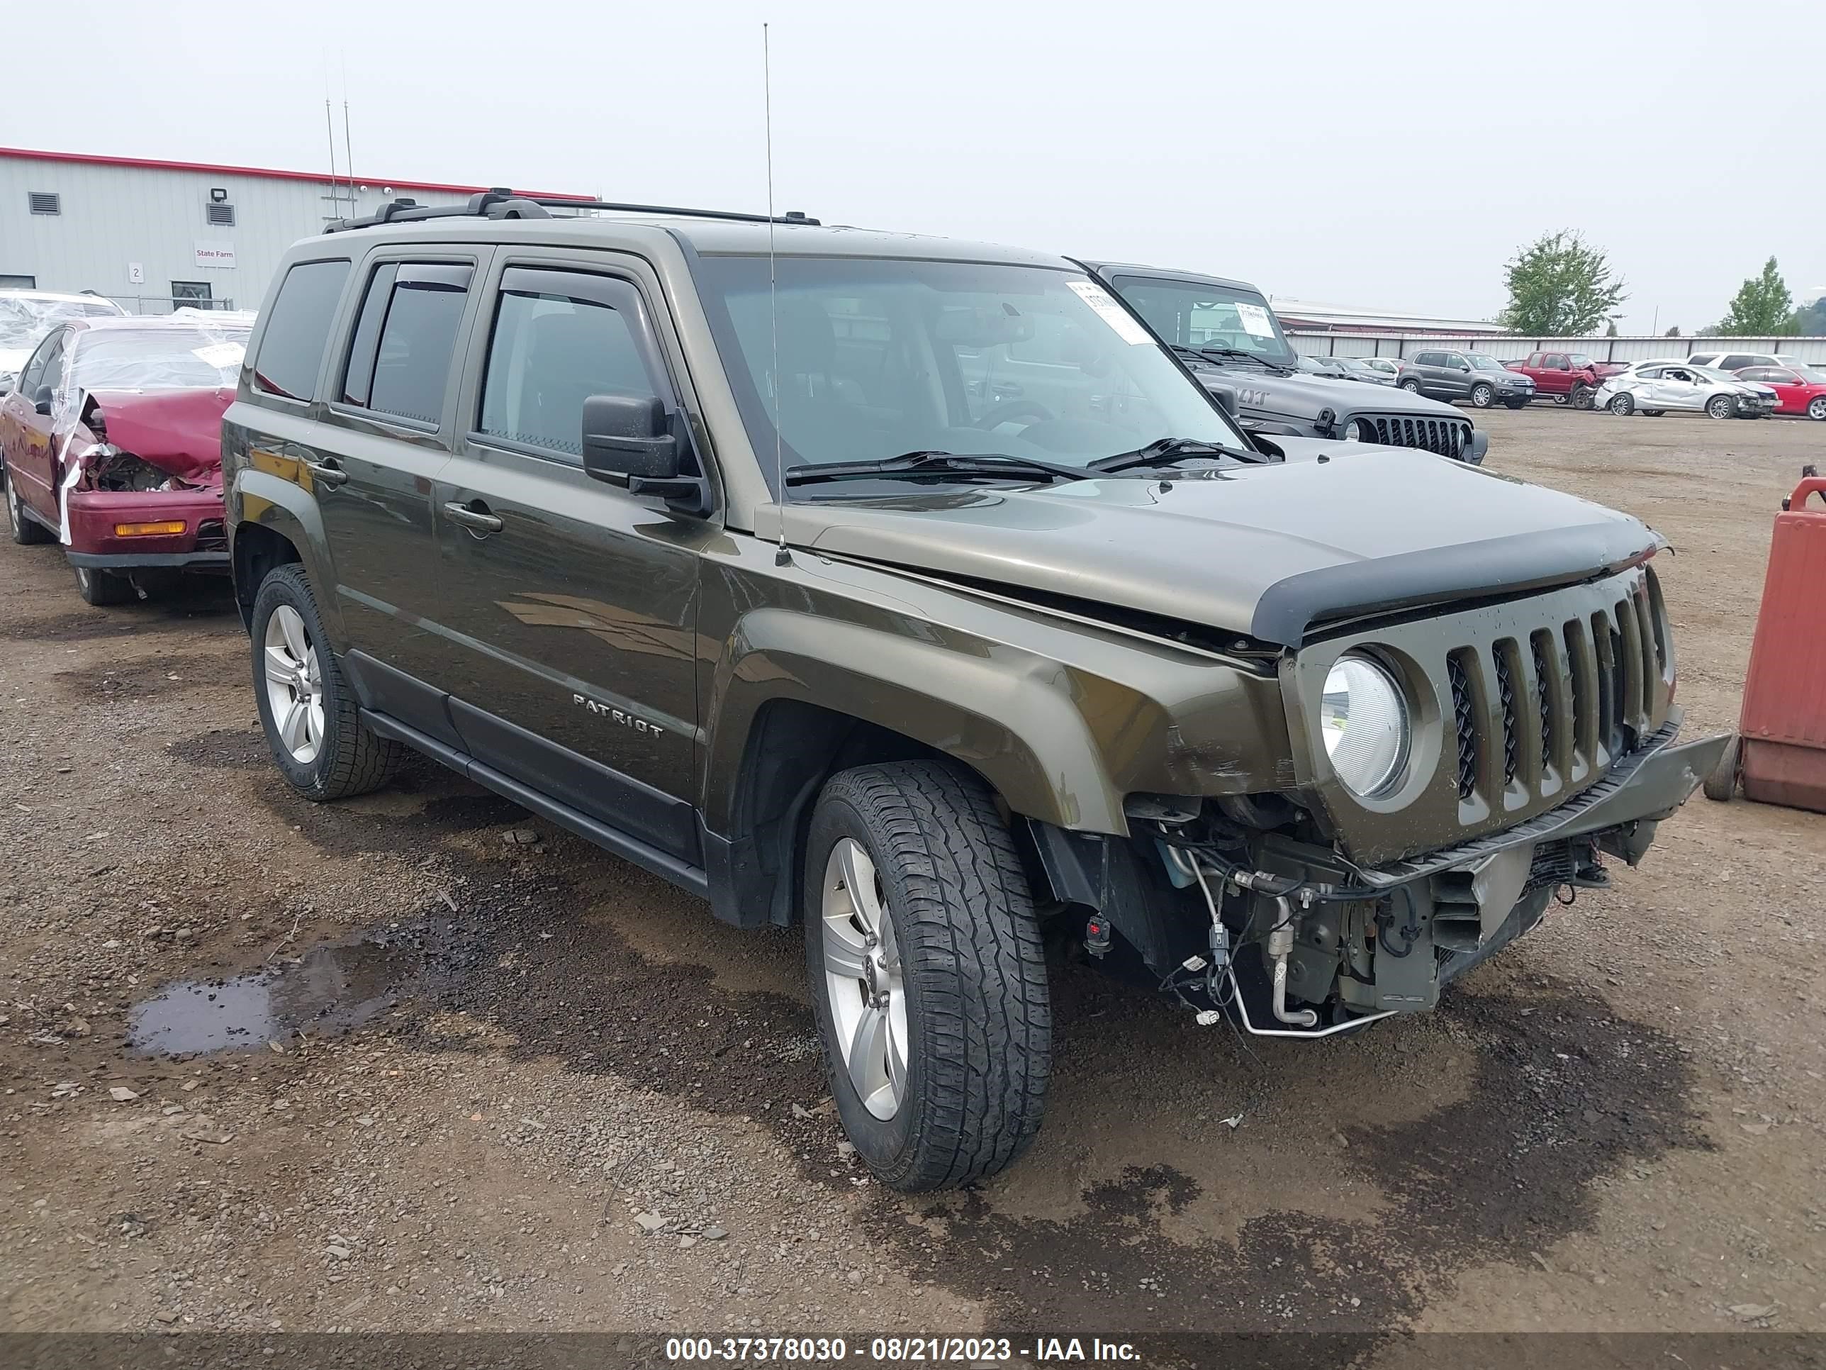
[[[601,276],[513,267],[488,343],[478,429],[493,438],[582,455],[582,402],[654,395],[624,287]]]

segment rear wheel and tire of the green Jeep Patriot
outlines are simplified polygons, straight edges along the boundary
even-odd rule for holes
[[[383,785],[405,753],[363,727],[303,566],[259,583],[252,628],[259,723],[292,789],[325,802]]]

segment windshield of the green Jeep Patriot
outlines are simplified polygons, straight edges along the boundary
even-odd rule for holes
[[[776,424],[789,469],[909,451],[1079,468],[1169,437],[1249,446],[1147,329],[1076,272],[782,258],[771,311],[767,270],[765,256],[698,267],[769,484]]]

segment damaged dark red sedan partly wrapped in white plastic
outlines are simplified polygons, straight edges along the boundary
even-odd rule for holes
[[[62,543],[91,605],[226,572],[221,418],[250,316],[73,320],[0,400],[15,543]]]

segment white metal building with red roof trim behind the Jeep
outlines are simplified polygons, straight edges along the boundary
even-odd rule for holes
[[[93,290],[135,314],[257,309],[279,254],[327,221],[484,188],[0,148],[0,289]]]

